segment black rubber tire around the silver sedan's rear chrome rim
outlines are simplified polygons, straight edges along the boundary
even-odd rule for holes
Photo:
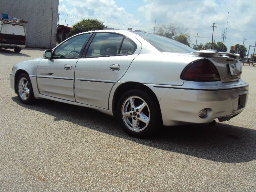
[[[126,99],[129,98],[130,96],[139,96],[140,98],[142,98],[147,103],[148,108],[150,110],[150,122],[148,123],[148,126],[140,132],[135,132],[130,130],[125,125],[124,120],[122,118],[122,106],[126,101]],[[142,90],[138,90],[138,89],[130,90],[124,93],[118,102],[118,107],[117,107],[118,122],[122,125],[122,129],[130,136],[138,137],[138,138],[151,136],[156,131],[156,123],[158,121],[157,117],[158,117],[157,108],[156,108],[156,104],[154,103],[154,100],[152,99],[152,97],[150,97],[149,94],[147,94]]]

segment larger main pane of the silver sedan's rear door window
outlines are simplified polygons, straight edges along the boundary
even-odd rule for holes
[[[90,44],[86,57],[117,55],[123,40],[122,35],[97,33]]]

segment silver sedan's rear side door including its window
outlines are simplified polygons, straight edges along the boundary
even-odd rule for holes
[[[136,43],[134,42],[136,41]],[[139,54],[141,44],[116,33],[96,33],[75,70],[76,102],[108,109],[109,94]]]

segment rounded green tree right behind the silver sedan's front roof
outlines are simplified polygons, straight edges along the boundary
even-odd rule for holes
[[[96,19],[83,19],[73,25],[70,35],[75,35],[86,31],[102,30],[103,28],[104,25],[102,25],[101,22]]]

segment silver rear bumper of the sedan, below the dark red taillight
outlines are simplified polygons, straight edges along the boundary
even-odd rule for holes
[[[147,85],[149,86],[149,85]],[[249,85],[229,87],[188,88],[184,86],[149,86],[156,94],[165,126],[190,123],[210,123],[218,118],[229,120],[242,112],[248,99]],[[200,118],[198,112],[207,110],[207,115]]]

